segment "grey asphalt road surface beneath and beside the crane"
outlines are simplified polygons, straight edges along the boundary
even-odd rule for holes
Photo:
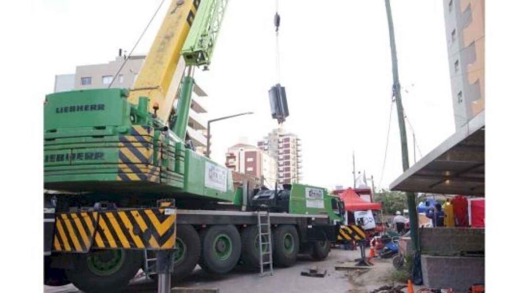
[[[200,267],[184,281],[172,284],[174,287],[219,288],[225,292],[320,292],[320,293],[365,293],[383,285],[392,284],[389,275],[393,271],[389,260],[375,260],[375,265],[367,273],[360,271],[335,271],[334,266],[340,262],[352,261],[359,257],[359,251],[332,249],[329,257],[321,262],[308,258],[299,258],[296,265],[287,268],[276,268],[273,276],[260,277],[257,273],[236,269],[223,276],[206,274]],[[300,273],[312,266],[327,270],[323,278],[305,277]],[[62,287],[45,286],[45,293],[80,292],[72,285]],[[124,293],[157,292],[156,284],[147,279],[132,281]]]

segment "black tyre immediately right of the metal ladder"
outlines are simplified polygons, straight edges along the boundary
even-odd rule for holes
[[[284,235],[290,234],[293,238],[294,248],[288,252],[284,247]],[[300,251],[300,238],[293,225],[278,226],[272,235],[272,259],[277,266],[292,266],[296,262],[296,256]]]

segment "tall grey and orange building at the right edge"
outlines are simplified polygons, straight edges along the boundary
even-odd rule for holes
[[[485,109],[485,1],[443,0],[456,129]]]

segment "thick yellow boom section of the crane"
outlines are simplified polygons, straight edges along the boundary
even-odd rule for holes
[[[137,105],[139,97],[150,98],[150,112],[158,105],[157,117],[168,121],[185,69],[180,51],[186,40],[200,0],[173,0],[159,32],[130,91],[128,100]]]

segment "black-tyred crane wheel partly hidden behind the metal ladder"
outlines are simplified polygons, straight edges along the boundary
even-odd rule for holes
[[[267,235],[265,236],[267,237]],[[263,239],[267,242],[267,239]],[[243,262],[245,269],[258,270],[260,267],[258,251],[258,227],[249,226],[242,230],[242,252],[240,259]],[[269,254],[264,254],[263,261],[269,261]]]

